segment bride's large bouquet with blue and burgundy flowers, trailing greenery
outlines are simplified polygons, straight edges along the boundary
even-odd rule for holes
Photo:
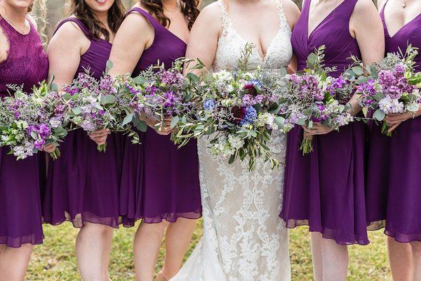
[[[279,166],[267,143],[272,130],[292,129],[283,117],[284,81],[262,70],[255,74],[243,70],[211,74],[196,92],[201,100],[196,115],[179,122],[173,140],[182,146],[190,138],[210,136],[210,152],[229,157],[229,164],[248,157],[251,171],[256,159],[262,157],[272,169]]]

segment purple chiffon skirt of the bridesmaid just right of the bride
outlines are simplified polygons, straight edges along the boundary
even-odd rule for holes
[[[308,225],[338,244],[368,244],[364,194],[364,125],[354,122],[314,136],[314,151],[299,150],[303,129],[288,133],[281,218]]]

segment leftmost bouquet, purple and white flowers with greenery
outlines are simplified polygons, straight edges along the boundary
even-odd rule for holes
[[[44,145],[59,142],[67,135],[68,106],[57,91],[55,84],[43,81],[27,94],[22,87],[11,86],[14,96],[1,101],[0,145],[11,148],[17,159],[42,150]],[[51,157],[60,157],[56,148]]]

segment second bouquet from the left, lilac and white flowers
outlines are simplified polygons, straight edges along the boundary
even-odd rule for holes
[[[80,73],[72,85],[64,86],[63,98],[69,103],[70,122],[91,133],[100,129],[127,131],[123,125],[126,112],[123,97],[114,88],[114,79],[105,74],[100,80],[88,72]],[[98,145],[105,152],[107,145]]]

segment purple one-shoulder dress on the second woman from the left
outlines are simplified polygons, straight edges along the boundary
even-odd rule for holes
[[[90,39],[88,29],[77,18],[74,22]],[[89,72],[100,79],[105,71],[112,44],[103,39],[90,39],[91,46],[81,55],[75,78]],[[65,55],[65,54],[63,54]],[[112,133],[107,138],[107,151],[99,152],[86,131],[70,131],[60,143],[61,157],[51,159],[44,195],[44,221],[58,225],[71,221],[76,228],[83,223],[100,223],[119,227],[119,181],[121,170],[121,138]]]

